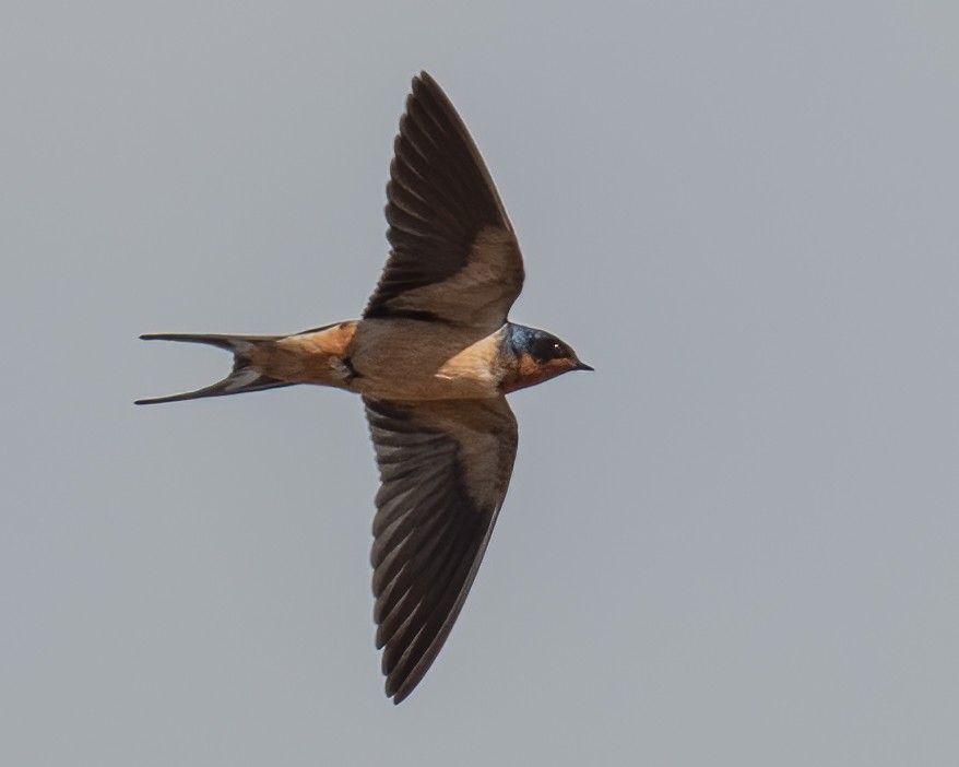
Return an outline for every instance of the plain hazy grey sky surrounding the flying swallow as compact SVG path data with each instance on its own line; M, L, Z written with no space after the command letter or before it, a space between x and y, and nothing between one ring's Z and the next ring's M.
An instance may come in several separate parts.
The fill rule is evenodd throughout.
M348 10L347 10L348 7ZM0 763L959 764L955 2L8 2ZM513 319L475 588L394 707L357 400L141 332L356 317L410 78Z

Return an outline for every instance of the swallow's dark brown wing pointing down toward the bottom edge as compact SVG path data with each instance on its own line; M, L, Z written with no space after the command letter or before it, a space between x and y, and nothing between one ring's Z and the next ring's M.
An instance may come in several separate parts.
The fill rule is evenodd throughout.
M473 585L512 473L517 421L504 397L364 402L382 480L370 555L377 648L400 703Z

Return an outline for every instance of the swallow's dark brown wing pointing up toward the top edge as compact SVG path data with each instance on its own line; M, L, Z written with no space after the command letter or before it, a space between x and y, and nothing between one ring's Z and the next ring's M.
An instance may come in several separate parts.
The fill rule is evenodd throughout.
M523 286L523 259L466 126L426 72L413 80L387 185L391 251L364 318L495 330Z

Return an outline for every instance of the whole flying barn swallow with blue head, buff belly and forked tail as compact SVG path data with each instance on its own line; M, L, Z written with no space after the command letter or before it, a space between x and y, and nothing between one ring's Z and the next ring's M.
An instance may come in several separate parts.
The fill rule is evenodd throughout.
M363 318L293 335L147 334L233 353L232 373L175 402L315 384L363 398L381 486L370 555L387 696L421 682L463 606L517 452L506 394L592 370L510 322L519 244L452 103L414 78L387 185L391 250Z

